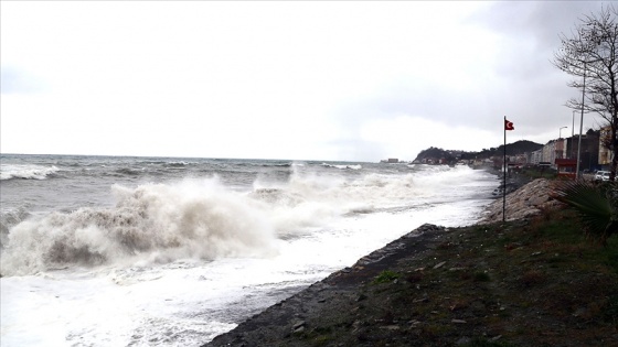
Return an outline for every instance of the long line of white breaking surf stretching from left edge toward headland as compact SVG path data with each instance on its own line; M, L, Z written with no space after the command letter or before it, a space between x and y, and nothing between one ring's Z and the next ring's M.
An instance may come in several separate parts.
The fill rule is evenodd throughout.
M456 196L458 189L449 186L472 173L466 167L351 177L295 171L286 182L256 180L249 192L232 189L216 176L135 188L114 185L113 207L29 218L22 213L10 221L2 230L1 273L269 257L277 252L278 239L323 228L337 218L409 212L431 204L435 192Z

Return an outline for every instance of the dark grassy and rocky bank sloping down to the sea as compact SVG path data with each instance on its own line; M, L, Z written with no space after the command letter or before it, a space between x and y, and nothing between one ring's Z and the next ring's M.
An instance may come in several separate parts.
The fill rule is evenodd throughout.
M204 346L618 346L618 275L542 239L564 218L550 189L511 192L507 223L499 198L476 226L424 225Z

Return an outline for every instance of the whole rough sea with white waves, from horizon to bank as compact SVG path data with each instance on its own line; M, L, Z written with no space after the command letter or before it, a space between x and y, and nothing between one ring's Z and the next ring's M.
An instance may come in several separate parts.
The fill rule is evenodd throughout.
M1 346L200 346L425 223L481 217L468 166L9 155Z

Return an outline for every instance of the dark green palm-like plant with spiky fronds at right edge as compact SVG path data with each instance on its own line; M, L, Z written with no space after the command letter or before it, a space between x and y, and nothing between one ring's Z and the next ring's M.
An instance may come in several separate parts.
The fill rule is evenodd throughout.
M618 234L618 184L587 181L560 183L553 197L573 208L585 227L586 236L607 246L607 239Z

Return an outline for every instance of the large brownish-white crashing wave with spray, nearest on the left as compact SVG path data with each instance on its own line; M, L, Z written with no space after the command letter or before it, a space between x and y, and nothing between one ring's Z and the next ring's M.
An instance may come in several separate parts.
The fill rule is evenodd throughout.
M271 224L216 178L115 185L116 206L51 213L13 227L2 274L98 265L126 258L264 257L276 251ZM153 257L156 256L156 257Z

